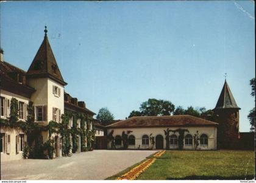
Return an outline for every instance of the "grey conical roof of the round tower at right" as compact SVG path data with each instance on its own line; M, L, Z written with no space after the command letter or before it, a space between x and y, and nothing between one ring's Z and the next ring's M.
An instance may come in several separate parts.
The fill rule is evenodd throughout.
M221 91L221 95L219 95L219 100L216 104L215 109L226 109L226 108L236 108L240 109L235 102L235 98L232 95L232 92L229 89L229 85L227 85L227 81L225 80L224 86Z

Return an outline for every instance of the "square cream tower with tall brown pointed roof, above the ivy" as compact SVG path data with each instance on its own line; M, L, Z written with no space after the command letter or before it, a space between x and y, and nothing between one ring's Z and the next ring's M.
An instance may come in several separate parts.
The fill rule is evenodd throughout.
M67 85L55 60L47 32L45 26L43 42L26 73L28 85L35 89L30 100L34 105L35 122L40 125L48 125L50 121L61 122L64 86ZM42 136L46 141L49 134L43 132ZM59 134L52 134L52 137L56 136Z

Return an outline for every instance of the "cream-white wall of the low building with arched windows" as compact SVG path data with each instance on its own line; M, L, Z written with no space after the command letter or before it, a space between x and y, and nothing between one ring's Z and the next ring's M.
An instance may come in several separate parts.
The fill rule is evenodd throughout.
M116 136L122 136L123 131L127 133L127 131L132 131L129 134L130 136L135 137L135 144L134 145L128 145L128 149L150 149L152 148L150 140L144 140L143 144L143 136L148 136L148 139L150 138L150 134L152 134L152 137L154 137L155 144L154 149L156 148L156 137L158 135L163 137L163 149L166 149L166 139L165 139L165 132L166 128L169 128L171 130L179 129L179 127L152 127L152 128L108 128L107 133L109 134L113 130L113 137ZM200 144L199 140L199 146L197 147L197 150L216 150L217 149L217 128L215 126L198 126L198 127L183 127L181 129L188 129L188 132L185 132L184 137L187 136L187 134L190 134L192 137L194 134L199 134L199 137L201 137L202 134L205 134L207 136L208 144L202 145ZM170 132L169 136L172 136L172 134L175 134L177 137L179 137L179 133L172 133ZM148 141L148 144L147 144ZM184 138L184 146L183 150L194 150L194 139L192 138L192 144L185 144L186 140ZM187 142L191 140L187 140ZM146 143L145 143L146 142ZM123 142L121 142L121 145L116 145L116 148L122 148ZM178 148L178 145L170 144L170 149L175 150ZM110 143L108 143L108 148L111 148Z

